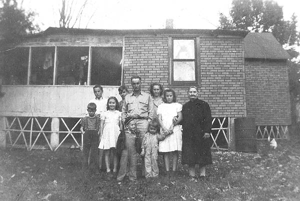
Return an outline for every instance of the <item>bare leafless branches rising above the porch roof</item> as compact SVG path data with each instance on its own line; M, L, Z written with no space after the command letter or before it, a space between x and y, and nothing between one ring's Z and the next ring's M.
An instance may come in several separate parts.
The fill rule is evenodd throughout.
M77 0L61 0L61 6L58 8L59 27L73 28L75 24L77 24L79 28L81 17L83 16L87 4L88 0L84 0L82 4L78 4ZM88 18L85 28L87 27L87 24L92 18L94 12Z

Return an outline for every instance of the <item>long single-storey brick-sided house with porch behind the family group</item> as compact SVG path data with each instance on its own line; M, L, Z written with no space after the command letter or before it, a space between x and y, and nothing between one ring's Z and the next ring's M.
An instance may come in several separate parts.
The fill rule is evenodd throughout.
M59 138L59 144L46 140L49 147L56 150L67 137L75 140L74 135L79 134L76 131L79 120L67 125L65 119L79 119L84 115L87 101L93 98L94 84L103 85L104 96L113 95L119 99L117 87L124 84L131 90L129 78L132 74L139 74L142 90L147 91L152 82L160 82L164 87L175 90L180 103L187 101L186 88L189 85L199 86L200 98L210 104L215 117L212 147L220 148L222 141L225 148L230 146L229 124L232 117L255 116L257 123L263 119L263 125L284 127L290 124L290 114L287 113L289 102L282 97L289 94L285 90L288 87L287 57L279 61L246 57L246 35L247 31L219 29L49 27L25 37L16 48L0 54L3 91L6 93L1 98L1 126L4 132L10 134L9 125L13 124L12 121L19 121L18 126L22 128L19 130L26 131L18 136L26 135L25 132L30 135L29 145L23 137L27 149L35 145L31 143L34 138L31 137L32 132L42 130L45 139L49 133L51 136L64 133L65 137ZM280 72L273 70L274 66ZM263 76L262 69L273 70L273 74L264 76L271 79L279 74L282 82L268 82L267 88L260 88L261 84L256 87L251 79ZM260 80L261 83L263 80ZM280 96L284 99L282 117L276 116L278 112L275 112L281 107L272 108L276 105L273 104L275 100L256 99L247 94L266 93L270 97L278 88L282 89L281 92L271 98ZM268 105L265 110L261 109L261 102ZM263 116L269 109L274 109L271 119L268 119L270 115ZM37 117L47 120L38 122ZM39 124L34 131L33 121ZM44 127L47 123L56 124L56 127L60 125L58 130L49 128L45 131L43 123ZM61 126L66 128L60 130ZM11 144L15 145L13 141ZM75 142L80 145L77 140Z

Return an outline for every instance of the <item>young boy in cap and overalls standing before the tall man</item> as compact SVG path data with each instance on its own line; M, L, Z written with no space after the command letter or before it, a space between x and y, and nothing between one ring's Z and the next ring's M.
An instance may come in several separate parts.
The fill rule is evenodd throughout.
M135 149L135 120L133 118L126 118L124 121L125 125L125 149L122 150L120 168L116 177L116 180L121 181L126 175L128 166L128 177L129 180L136 180L136 162L137 152Z

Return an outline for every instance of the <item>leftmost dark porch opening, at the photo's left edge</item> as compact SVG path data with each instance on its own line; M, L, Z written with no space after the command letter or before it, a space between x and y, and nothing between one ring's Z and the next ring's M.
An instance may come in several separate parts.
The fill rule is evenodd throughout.
M27 84L28 47L14 48L1 54L0 71L2 84Z

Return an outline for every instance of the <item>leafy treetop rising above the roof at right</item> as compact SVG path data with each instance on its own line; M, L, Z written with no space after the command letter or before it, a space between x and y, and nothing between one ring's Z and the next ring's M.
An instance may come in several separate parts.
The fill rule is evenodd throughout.
M293 44L299 38L296 16L285 21L282 6L273 0L232 0L229 14L230 18L220 13L219 28L272 32L280 44Z

